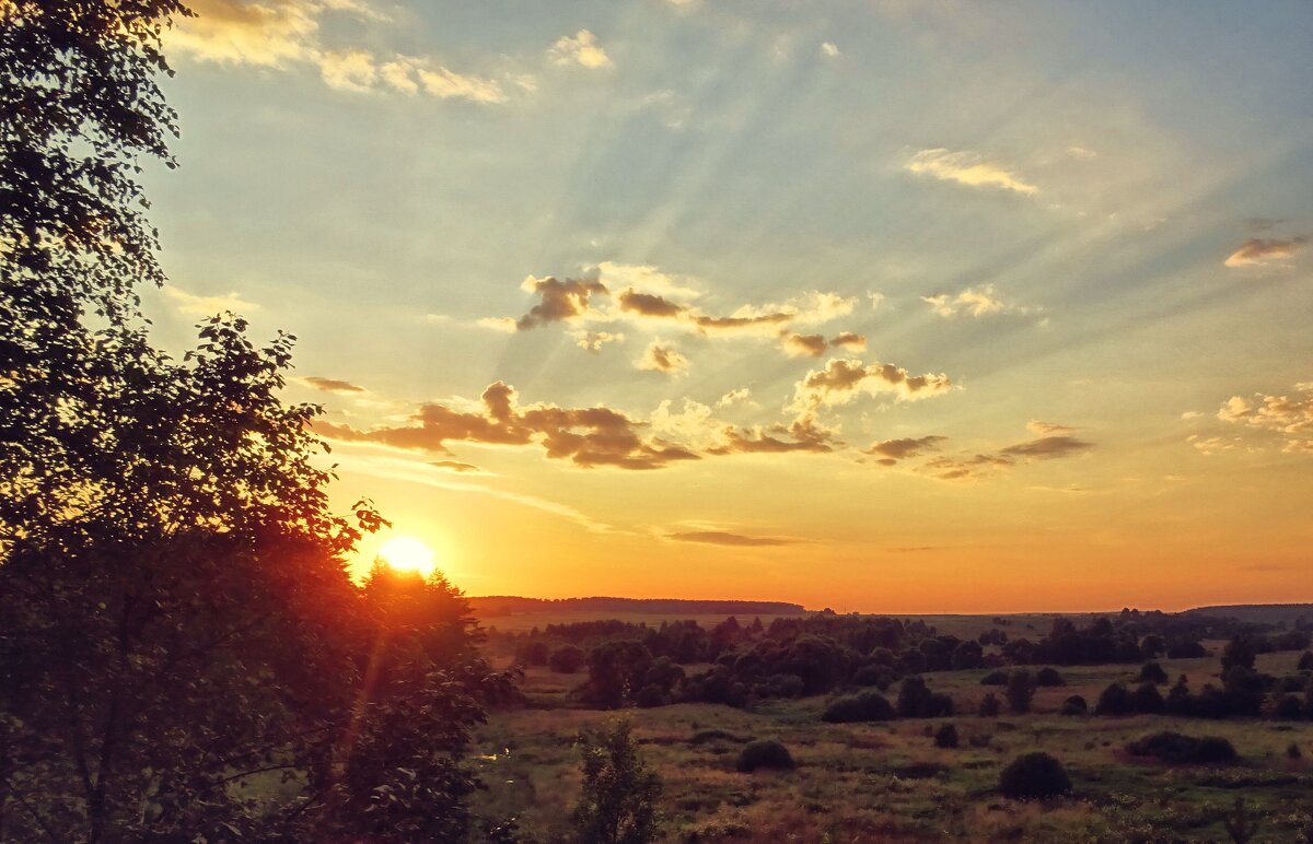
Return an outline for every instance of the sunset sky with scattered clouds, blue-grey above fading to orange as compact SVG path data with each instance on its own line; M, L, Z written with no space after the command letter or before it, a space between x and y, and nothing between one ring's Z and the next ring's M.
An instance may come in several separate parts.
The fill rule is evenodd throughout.
M193 0L183 348L469 595L1313 601L1313 7Z

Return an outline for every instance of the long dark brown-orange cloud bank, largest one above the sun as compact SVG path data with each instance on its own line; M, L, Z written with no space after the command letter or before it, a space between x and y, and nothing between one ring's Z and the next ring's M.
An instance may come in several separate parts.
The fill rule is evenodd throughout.
M500 381L488 385L481 404L471 411L439 403L423 404L411 416L410 425L360 431L320 420L314 423L314 429L330 440L376 442L442 455L450 454L448 442L537 445L549 458L567 459L582 467L645 470L699 459L688 449L645 438L639 433L641 421L611 408L520 407L515 389Z

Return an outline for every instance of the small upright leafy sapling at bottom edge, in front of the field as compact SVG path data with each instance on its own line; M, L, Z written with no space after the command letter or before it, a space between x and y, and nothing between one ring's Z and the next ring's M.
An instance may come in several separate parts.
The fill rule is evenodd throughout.
M647 769L628 721L580 746L583 794L570 815L576 840L590 844L647 844L660 833L662 782Z

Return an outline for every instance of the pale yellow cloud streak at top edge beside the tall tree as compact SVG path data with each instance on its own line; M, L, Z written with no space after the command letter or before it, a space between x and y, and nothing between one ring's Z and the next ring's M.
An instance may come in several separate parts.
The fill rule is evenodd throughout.
M452 71L429 58L360 49L326 50L319 41L320 18L347 13L382 20L370 5L353 0L193 0L196 17L179 18L168 47L200 62L252 64L277 70L318 68L334 89L357 93L397 91L428 93L481 104L508 97L498 81Z

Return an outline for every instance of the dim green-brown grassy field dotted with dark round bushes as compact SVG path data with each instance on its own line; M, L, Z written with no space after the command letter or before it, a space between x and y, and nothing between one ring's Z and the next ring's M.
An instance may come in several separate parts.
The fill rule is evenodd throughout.
M1293 669L1295 654L1259 658L1260 671ZM1216 681L1217 660L1163 660L1175 679L1199 688ZM689 705L625 710L649 764L662 774L666 833L671 841L1229 841L1221 812L1236 797L1263 820L1254 841L1304 841L1313 809L1313 769L1291 759L1293 743L1313 753L1313 725L1199 721L1136 715L1062 717L1061 702L1083 694L1092 704L1129 667L1062 669L1066 686L1040 689L1027 715L981 718L990 690L983 671L928 673L962 715L873 725L819 719L827 698L772 701L754 711ZM487 790L481 809L517 815L521 830L551 840L579 793L582 730L614 713L571 709L570 686L582 677L533 669L533 707L495 714L479 736ZM957 749L935 747L941 723L961 734ZM1148 732L1178 730L1229 739L1241 755L1217 769L1169 767L1132 757L1125 744ZM793 752L793 772L738 773L743 743L776 738ZM1020 753L1043 749L1067 768L1075 793L1049 803L1018 803L997 791L999 770Z

